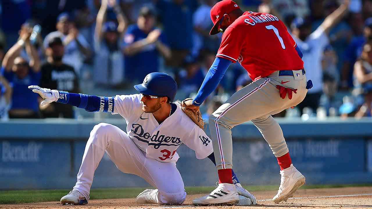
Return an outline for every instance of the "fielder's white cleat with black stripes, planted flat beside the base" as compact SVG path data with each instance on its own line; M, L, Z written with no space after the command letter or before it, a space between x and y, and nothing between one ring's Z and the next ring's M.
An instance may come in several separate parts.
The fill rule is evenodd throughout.
M236 204L239 195L234 184L221 183L209 195L192 200L194 205Z

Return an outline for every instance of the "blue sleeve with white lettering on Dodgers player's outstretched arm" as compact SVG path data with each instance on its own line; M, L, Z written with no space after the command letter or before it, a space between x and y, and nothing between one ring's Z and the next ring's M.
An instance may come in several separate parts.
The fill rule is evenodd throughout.
M59 103L64 103L79 108L83 108L88 112L113 112L114 97L99 97L87 94L68 93L67 91L59 91Z

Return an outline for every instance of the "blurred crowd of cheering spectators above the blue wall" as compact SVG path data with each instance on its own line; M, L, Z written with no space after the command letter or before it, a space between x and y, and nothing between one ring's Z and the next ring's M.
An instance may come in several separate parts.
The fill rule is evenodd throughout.
M221 41L209 36L216 2L1 0L0 119L77 117L68 105L40 107L29 85L110 96L102 94L134 93L133 84L160 71L176 79L178 99L195 96ZM372 0L236 2L278 16L304 54L314 87L277 117L371 117ZM231 64L204 116L251 82Z

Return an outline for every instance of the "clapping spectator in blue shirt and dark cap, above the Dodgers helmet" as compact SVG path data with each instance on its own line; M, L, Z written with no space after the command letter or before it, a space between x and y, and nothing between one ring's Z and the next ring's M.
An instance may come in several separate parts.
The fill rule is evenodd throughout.
M155 13L142 7L137 24L129 25L124 35L125 78L138 83L153 72L159 71L159 57L171 57L171 51L160 29L155 28Z

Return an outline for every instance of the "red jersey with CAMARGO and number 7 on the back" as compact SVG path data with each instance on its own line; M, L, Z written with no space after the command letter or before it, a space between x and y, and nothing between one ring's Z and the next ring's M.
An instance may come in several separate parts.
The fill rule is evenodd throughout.
M217 56L238 61L252 80L277 70L301 70L296 42L278 17L244 12L222 34Z

